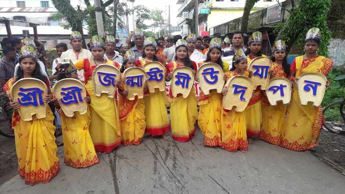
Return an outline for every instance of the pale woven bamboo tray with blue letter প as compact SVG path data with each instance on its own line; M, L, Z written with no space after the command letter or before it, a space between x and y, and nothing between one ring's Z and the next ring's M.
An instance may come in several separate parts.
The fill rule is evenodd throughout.
M266 89L266 96L272 106L282 101L287 105L291 100L291 82L286 78L273 78Z

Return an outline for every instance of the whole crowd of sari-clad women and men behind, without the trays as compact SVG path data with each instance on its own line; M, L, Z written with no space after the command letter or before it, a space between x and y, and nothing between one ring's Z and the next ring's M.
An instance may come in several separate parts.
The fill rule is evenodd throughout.
M319 30L311 29L305 39L305 54L297 57L290 66L284 41L276 40L270 56L273 61L270 78L283 77L293 83L291 103L271 106L258 86L245 111L236 112L223 109L222 98L228 93L227 87L221 94L211 91L205 95L201 91L199 98L196 98L194 87L188 97L173 97L172 90L169 95L165 91L150 93L145 87L143 98L129 100L124 80L117 79L117 96L98 97L94 93L92 73L101 64L113 65L123 73L130 67L143 68L146 63L154 61L166 67L167 83L173 78L176 67L186 66L196 73L205 63L219 65L225 73L225 81L234 76L250 78L249 63L256 57L266 57L261 53L261 32L253 32L245 44L242 32L235 32L231 38L224 39L220 36L201 38L195 34L154 39L144 37L143 32L136 29L119 47L113 36L92 36L88 49L82 48L80 32L72 32L71 49L68 50L64 43L56 45L59 58L53 61L52 75L46 73L44 63L39 60L35 41L14 38L4 44L0 83L10 99L9 106L14 109L12 128L19 174L26 184L49 182L58 174L54 123L62 127L65 163L75 168L98 163L97 152L110 153L120 144L139 145L145 133L166 139L171 131L175 141L187 142L194 137L196 122L205 137L205 146L246 152L255 139L262 139L294 151L309 150L317 145L323 122L322 111L321 107L301 105L296 80L307 72L328 74L333 62L317 55L320 42ZM222 60L228 56L233 56L231 64ZM72 63L63 63L66 60ZM200 63L201 60L203 62ZM23 78L37 78L47 85L49 94L43 100L50 106L46 108L45 118L23 121L19 116L17 109L20 105L12 99L9 91ZM79 79L85 84L86 114L75 112L73 117L67 117L61 110L61 100L51 94L53 80L65 78ZM195 79L198 81L199 78L196 76Z

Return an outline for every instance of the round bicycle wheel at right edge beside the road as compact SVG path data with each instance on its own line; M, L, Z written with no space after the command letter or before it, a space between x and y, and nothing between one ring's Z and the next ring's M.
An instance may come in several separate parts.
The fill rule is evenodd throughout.
M322 109L324 116L324 129L339 134L345 135L345 100L332 102Z

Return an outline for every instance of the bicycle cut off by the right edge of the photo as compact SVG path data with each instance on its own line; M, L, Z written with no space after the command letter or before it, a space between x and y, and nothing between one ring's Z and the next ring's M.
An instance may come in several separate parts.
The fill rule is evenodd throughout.
M340 117L339 117L338 113L336 113L338 109L339 109L338 113L340 114ZM332 103L326 105L325 107L323 107L322 108L323 115L325 115L326 111L328 111L328 110L332 113L333 117L337 117L337 118L333 118L333 119L342 118L343 123L333 122L333 121L332 122L325 121L323 123L323 127L330 132L333 132L333 133L336 133L339 135L345 135L345 98L343 100L338 100L338 101L332 102Z

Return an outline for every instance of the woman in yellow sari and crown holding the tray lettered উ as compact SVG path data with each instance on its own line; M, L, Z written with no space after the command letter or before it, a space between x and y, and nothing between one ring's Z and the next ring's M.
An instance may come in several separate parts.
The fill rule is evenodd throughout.
M221 55L221 39L212 38L206 61L198 65L200 67L205 63L215 63L222 67L224 72L227 72L229 71L229 64L222 62ZM219 79L222 78L220 77ZM198 125L205 137L204 144L212 147L221 145L220 112L222 109L222 94L218 94L217 91L212 90L209 95L205 95L204 92L201 91L199 106Z

